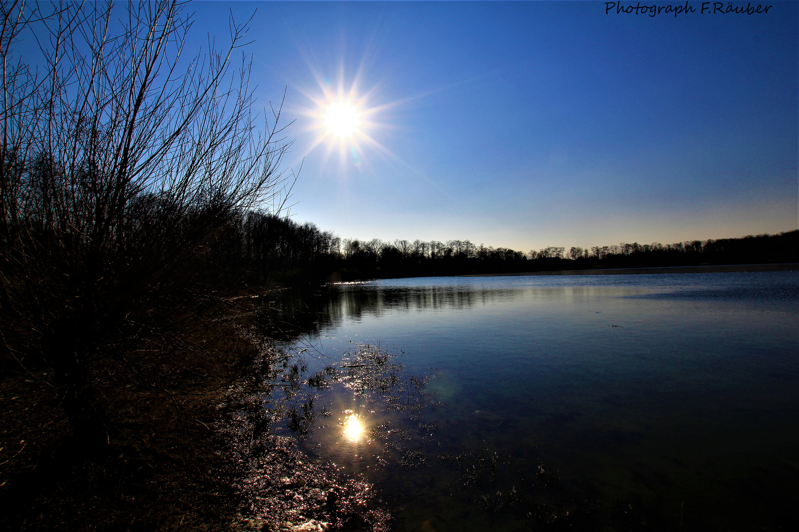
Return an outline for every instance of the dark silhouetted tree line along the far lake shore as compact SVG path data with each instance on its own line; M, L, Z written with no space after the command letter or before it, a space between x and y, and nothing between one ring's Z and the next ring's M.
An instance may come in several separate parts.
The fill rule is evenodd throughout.
M657 266L799 262L799 231L673 244L620 243L588 249L548 246L528 253L468 240L359 240L280 215L250 211L237 233L249 282L502 274ZM239 271L238 274L242 272Z

